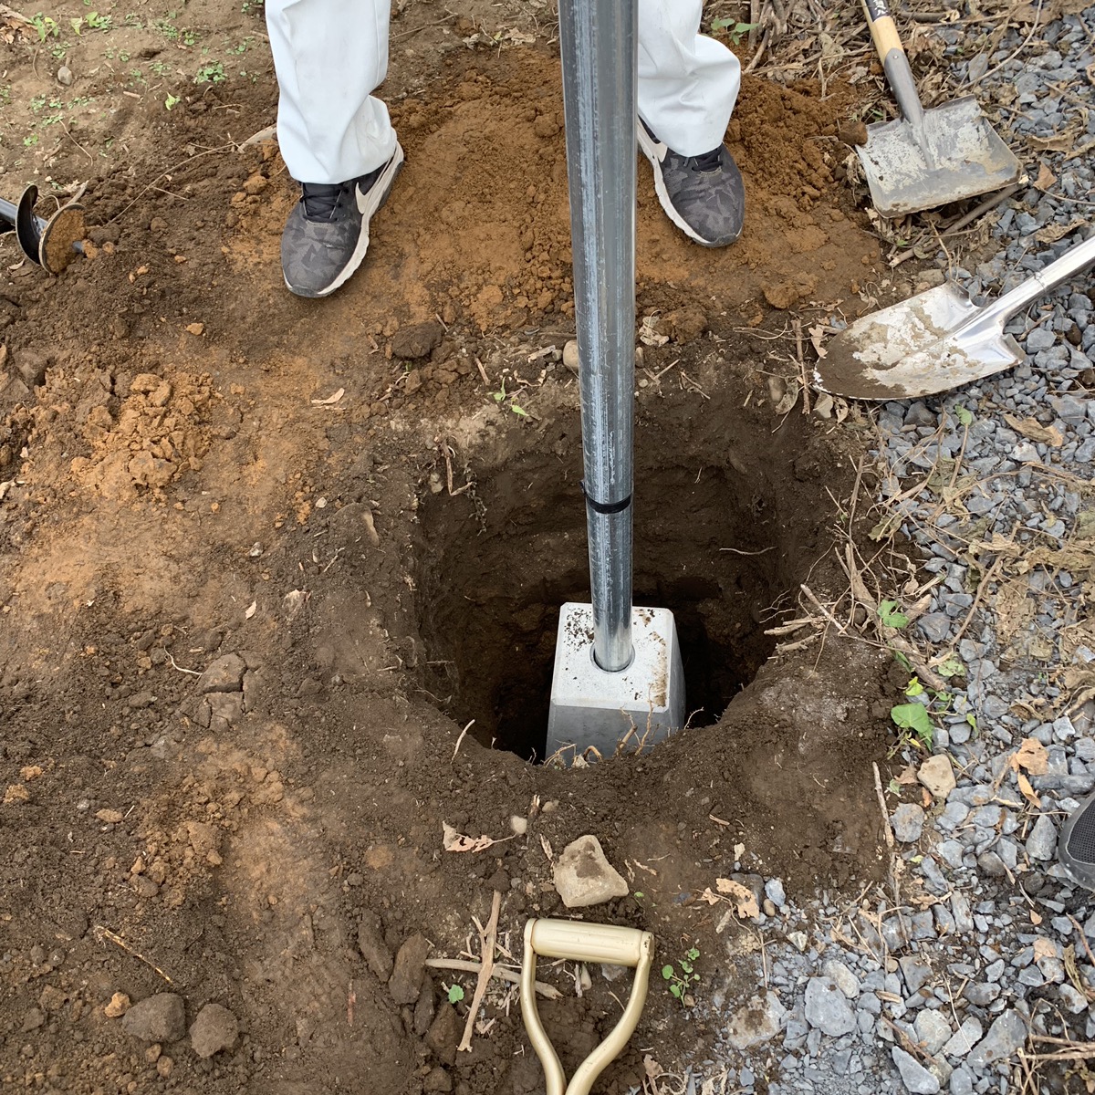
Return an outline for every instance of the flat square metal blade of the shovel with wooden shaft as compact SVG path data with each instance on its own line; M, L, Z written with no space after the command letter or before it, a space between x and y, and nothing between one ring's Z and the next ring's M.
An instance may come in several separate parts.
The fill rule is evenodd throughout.
M923 134L903 118L867 126L856 151L884 217L1002 189L1022 170L971 95L924 111Z

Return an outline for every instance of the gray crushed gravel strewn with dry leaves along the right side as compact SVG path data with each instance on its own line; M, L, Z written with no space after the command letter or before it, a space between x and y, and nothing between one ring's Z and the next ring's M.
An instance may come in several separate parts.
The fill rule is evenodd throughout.
M994 297L1090 231L1095 7L1029 41L1008 30L991 56L970 56L960 26L935 33L1038 181L989 215L995 257L954 269L940 251ZM1064 1071L1077 1062L1028 1082L1019 1050L1095 1038L1095 896L1054 862L1062 820L1095 789L1092 292L1088 275L1013 320L1018 368L880 408L883 499L932 581L901 606L906 634L944 678L942 695L907 696L934 733L901 751L886 794L889 899L796 909L770 879L760 919L785 942L757 959L757 999L723 1013L725 1051L696 1062L687 1095L1090 1090Z

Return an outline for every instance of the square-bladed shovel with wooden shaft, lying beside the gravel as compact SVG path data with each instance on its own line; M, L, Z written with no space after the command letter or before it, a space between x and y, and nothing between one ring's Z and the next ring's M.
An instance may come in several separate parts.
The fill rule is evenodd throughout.
M871 36L901 108L897 122L867 126L856 151L884 217L934 209L1010 186L1018 160L989 125L972 95L925 111L886 0L863 0Z

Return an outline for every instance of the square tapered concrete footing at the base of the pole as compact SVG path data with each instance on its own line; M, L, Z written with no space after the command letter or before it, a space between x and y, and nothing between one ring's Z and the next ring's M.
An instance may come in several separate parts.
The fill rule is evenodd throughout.
M558 618L548 717L551 757L590 746L608 759L632 727L627 748L653 746L684 725L684 670L668 609L632 609L631 665L606 672L593 660L591 604L568 601Z

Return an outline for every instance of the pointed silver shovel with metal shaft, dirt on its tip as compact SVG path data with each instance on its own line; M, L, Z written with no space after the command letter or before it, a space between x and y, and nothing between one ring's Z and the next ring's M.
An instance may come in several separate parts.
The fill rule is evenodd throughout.
M816 387L857 400L904 400L1003 372L1024 358L1004 334L1007 320L1093 264L1095 235L994 303L975 304L947 284L864 315L826 345L814 368Z

